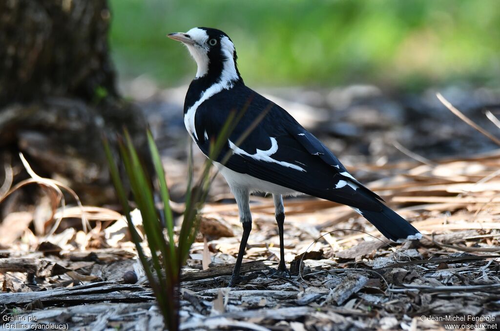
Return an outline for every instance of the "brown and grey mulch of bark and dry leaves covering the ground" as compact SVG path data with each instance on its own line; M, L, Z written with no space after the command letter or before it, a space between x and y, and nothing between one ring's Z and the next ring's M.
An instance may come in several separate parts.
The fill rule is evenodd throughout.
M443 322L431 317L446 315L489 318L468 324L495 323L499 168L500 151L431 164L360 165L384 174L368 186L421 230L422 240L390 243L348 207L289 198L284 242L292 276L260 276L235 288L226 286L241 234L237 207L227 203L230 195L213 197L222 202L204 207L202 234L183 273L182 328L442 329ZM279 255L274 207L268 197L251 200L254 227L244 270L267 273ZM36 316L29 323L67 323L72 329L160 329L124 220L106 208L82 208L92 227L88 233L67 227L35 235L30 224L38 216L25 211L0 224L0 233L10 232L0 242L0 314ZM78 206L66 206L53 218L64 224L79 215ZM137 282L129 283L135 280L130 271Z

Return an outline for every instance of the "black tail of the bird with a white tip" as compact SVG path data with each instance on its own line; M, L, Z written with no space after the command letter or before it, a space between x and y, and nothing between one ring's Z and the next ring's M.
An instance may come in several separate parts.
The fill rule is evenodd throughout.
M407 239L420 239L418 232L410 223L399 216L395 211L382 204L381 211L359 210L369 222L392 241L402 242Z

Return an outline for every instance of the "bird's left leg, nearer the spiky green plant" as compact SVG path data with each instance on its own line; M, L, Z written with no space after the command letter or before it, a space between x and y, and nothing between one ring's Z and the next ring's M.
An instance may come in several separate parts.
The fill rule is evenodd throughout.
M239 270L241 268L241 261L243 259L243 254L245 253L246 241L251 231L251 213L249 204L249 193L246 190L232 188L234 198L236 199L236 204L238 205L239 220L243 225L243 235L241 235L241 241L239 243L238 256L236 257L236 264L234 264L234 269L232 271L231 280L229 281L229 287L233 287L242 280L250 280L256 278L259 274L265 274L261 271L252 272L247 276L241 276Z

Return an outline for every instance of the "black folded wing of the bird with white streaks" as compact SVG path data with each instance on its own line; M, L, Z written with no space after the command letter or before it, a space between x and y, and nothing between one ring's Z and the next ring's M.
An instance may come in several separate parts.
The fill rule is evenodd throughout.
M265 116L236 146L265 110ZM243 114L216 159L230 154L225 163L229 169L355 208L381 210L380 197L352 178L314 135L284 109L242 84L213 95L196 110L196 142L205 155L231 111Z

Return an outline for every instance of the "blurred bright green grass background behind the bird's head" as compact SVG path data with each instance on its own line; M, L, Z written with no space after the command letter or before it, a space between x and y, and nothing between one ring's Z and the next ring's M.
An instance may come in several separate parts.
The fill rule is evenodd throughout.
M121 78L160 86L192 79L193 60L165 37L194 26L226 32L245 82L419 89L500 80L498 0L110 0Z

